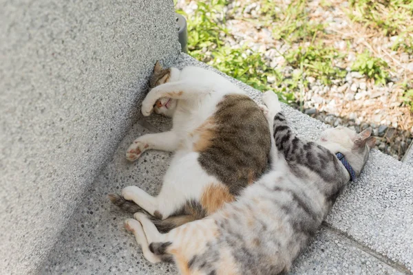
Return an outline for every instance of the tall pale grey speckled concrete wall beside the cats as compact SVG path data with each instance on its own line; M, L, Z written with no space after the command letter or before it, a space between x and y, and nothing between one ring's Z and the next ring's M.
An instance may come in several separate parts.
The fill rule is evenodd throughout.
M32 273L178 55L172 0L0 0L0 270Z

